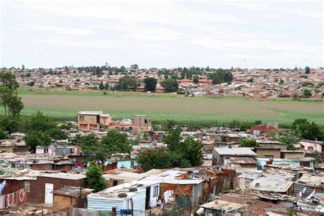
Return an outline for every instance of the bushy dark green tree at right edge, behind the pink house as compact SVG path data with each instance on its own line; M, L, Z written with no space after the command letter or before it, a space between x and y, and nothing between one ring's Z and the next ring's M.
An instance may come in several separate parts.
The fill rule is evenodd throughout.
M304 139L323 139L323 131L314 122L310 123L306 118L299 118L291 124L291 129Z

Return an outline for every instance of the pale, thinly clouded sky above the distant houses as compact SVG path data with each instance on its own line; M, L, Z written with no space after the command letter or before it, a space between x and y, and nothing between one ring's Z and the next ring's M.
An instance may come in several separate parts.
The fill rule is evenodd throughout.
M324 65L321 0L0 3L0 67Z

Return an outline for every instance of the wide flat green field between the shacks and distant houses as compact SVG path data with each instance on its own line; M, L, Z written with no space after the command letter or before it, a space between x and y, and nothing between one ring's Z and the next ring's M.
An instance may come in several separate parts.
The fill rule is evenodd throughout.
M268 99L206 96L182 97L176 94L136 92L65 91L20 88L23 115L35 111L62 120L77 120L78 111L102 110L114 119L148 115L152 120L177 122L218 122L262 120L290 124L297 118L324 124L324 102L316 100ZM3 112L3 110L1 110Z

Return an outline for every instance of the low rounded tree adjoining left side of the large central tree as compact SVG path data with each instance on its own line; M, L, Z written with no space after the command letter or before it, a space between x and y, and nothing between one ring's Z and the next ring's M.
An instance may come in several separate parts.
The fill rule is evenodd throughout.
M165 169L170 167L170 155L162 148L145 149L139 152L137 163L143 170Z

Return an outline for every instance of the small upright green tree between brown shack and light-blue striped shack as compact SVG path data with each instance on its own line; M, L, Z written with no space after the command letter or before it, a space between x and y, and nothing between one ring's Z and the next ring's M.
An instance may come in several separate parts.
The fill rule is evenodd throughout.
M90 162L90 167L85 172L85 176L87 176L87 187L94 189L94 192L105 189L106 180L103 178L103 169L95 161Z

